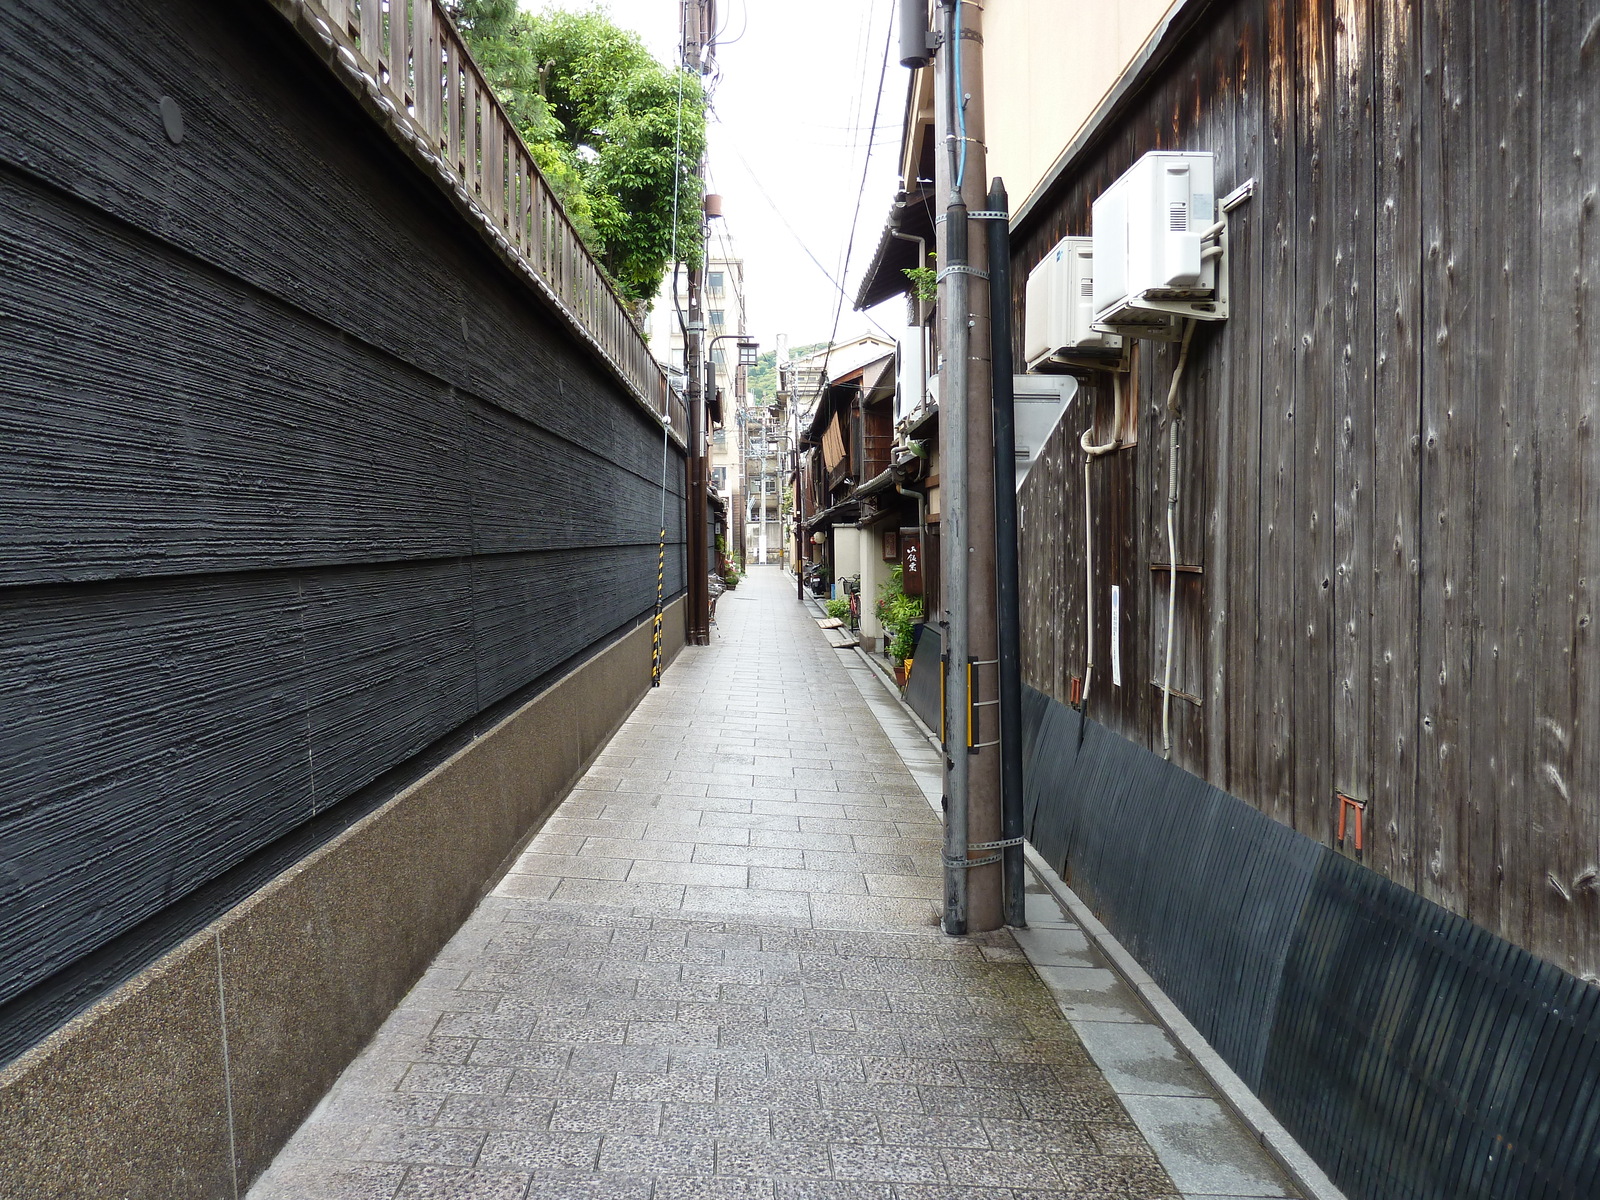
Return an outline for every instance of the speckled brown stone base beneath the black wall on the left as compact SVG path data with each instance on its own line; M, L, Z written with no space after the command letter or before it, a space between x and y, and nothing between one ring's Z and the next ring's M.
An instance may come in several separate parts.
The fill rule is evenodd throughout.
M683 646L683 603L662 658ZM232 1200L650 690L634 629L0 1072L0 1198Z

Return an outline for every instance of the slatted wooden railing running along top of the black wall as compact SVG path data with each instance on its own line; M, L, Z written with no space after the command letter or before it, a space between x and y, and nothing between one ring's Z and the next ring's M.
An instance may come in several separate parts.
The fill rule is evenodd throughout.
M304 0L645 405L688 432L643 333L578 237L438 0Z

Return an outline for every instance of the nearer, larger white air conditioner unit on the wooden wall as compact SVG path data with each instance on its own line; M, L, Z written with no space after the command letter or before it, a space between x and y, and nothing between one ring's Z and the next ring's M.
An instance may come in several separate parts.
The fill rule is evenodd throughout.
M1227 318L1214 174L1210 150L1152 150L1094 200L1094 328L1176 341Z

